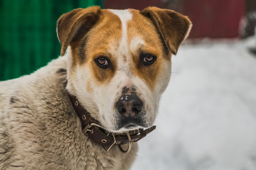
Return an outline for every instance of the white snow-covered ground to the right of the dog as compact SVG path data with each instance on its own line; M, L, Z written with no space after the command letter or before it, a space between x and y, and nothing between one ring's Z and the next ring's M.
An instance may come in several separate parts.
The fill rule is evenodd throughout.
M256 57L245 41L182 45L133 170L255 170Z

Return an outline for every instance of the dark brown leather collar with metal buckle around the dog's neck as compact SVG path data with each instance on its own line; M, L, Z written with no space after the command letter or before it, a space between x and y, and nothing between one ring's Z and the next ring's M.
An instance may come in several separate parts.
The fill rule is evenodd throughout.
M75 96L69 94L70 101L75 109L75 112L78 114L78 117L82 123L82 130L85 132L91 140L96 142L99 145L102 145L107 152L114 146L117 145L119 149L127 153L132 148L132 142L137 142L145 137L149 132L156 129L156 126L152 126L151 128L139 129L139 130L131 130L125 132L123 134L114 134L112 132L107 131L103 128L100 123L90 116L85 108L83 108L78 99ZM122 145L129 144L127 150L122 149Z

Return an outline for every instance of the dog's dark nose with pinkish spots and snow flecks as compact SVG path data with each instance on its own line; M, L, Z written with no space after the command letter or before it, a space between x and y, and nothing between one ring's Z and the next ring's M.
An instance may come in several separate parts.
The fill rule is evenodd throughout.
M117 111L124 118L134 118L142 111L143 103L137 96L122 96L117 101Z

